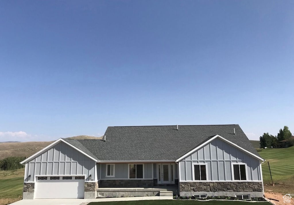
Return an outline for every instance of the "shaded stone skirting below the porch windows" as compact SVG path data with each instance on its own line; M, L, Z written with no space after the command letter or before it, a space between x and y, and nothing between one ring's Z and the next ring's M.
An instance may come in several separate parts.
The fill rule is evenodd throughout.
M152 187L153 179L102 179L98 184L99 188Z

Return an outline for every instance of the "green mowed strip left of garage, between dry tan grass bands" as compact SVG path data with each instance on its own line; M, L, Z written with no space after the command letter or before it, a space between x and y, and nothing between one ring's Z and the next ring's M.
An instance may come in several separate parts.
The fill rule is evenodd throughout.
M0 179L0 198L18 198L22 195L24 177Z

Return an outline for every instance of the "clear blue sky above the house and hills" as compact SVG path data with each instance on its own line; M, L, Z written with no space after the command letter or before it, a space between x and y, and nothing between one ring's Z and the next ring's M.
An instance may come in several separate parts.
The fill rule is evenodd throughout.
M294 1L0 1L0 141L294 132Z

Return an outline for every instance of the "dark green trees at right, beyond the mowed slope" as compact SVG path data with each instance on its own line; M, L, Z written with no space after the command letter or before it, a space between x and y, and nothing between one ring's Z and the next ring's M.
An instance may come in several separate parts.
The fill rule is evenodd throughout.
M262 136L260 136L260 148L263 147L279 147L279 142L285 139L289 139L292 136L292 133L290 132L289 128L287 126L284 126L283 129L279 130L279 133L277 136L273 136L271 134L263 133ZM293 145L293 142L292 144Z

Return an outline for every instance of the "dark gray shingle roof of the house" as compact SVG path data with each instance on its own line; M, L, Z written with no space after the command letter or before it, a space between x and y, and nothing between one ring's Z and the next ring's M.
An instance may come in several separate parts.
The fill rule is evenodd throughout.
M259 156L237 124L179 125L178 130L176 126L114 126L107 128L105 142L66 141L101 161L176 160L216 134Z

